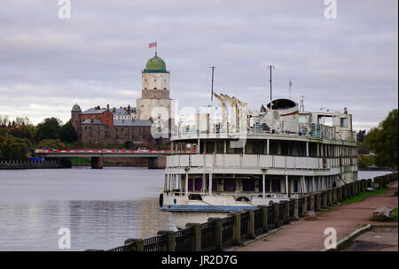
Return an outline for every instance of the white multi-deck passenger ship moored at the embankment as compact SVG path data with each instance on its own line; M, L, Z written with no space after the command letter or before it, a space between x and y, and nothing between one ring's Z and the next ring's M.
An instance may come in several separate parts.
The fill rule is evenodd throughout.
M234 96L214 95L221 107L180 121L171 138L160 210L173 212L177 227L356 181L346 108L299 111L277 99L248 111Z

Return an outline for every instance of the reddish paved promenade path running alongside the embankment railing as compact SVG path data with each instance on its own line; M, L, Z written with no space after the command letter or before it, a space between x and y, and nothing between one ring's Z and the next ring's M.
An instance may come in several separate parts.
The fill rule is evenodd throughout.
M319 251L325 248L326 227L337 230L337 242L345 235L364 224L373 224L372 211L382 205L397 207L398 198L393 196L397 181L386 194L367 196L364 201L353 204L335 205L332 211L325 212L317 220L293 221L266 239L249 243L238 251ZM379 222L380 223L380 222ZM397 233L397 230L396 230Z

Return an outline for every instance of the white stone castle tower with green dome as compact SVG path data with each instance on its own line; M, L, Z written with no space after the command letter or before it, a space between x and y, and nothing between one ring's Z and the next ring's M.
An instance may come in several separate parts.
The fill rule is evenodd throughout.
M137 99L137 119L171 119L169 76L165 62L155 56L147 61L142 72L142 97Z

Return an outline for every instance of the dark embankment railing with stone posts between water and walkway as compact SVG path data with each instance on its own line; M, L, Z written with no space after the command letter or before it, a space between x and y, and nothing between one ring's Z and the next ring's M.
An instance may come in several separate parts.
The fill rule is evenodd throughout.
M387 177L379 177L378 182L381 186L391 181L397 180L397 173L389 174ZM353 189L348 192L346 198L360 194L372 180L361 180L351 182L345 186L336 188L334 192L337 198L332 199L332 204L339 203L338 194L345 191L345 188ZM317 195L320 195L317 206ZM208 219L206 223L191 224L177 232L159 232L159 235L146 239L130 239L121 247L108 251L162 251L162 250L222 250L233 244L239 245L240 242L254 238L256 235L264 234L268 230L279 227L284 223L289 223L293 219L304 217L305 212L309 211L310 204L313 202L314 209L321 210L329 203L325 204L325 198L330 196L327 191L321 193L307 194L307 208L304 208L304 197L291 199L286 208L286 203L270 204L255 210L246 210L239 213L232 213L226 218ZM295 207L295 204L297 206ZM329 204L330 205L330 204ZM264 209L264 210L263 210ZM278 211L275 211L278 209ZM263 213L263 212L266 213ZM287 212L288 211L288 212ZM288 214L288 216L286 215ZM288 217L288 219L286 219Z

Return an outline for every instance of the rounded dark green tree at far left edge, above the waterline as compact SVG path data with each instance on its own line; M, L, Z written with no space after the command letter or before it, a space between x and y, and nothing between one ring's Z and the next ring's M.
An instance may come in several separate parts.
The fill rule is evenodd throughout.
M26 160L28 147L24 140L12 135L0 136L0 158Z

